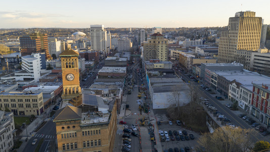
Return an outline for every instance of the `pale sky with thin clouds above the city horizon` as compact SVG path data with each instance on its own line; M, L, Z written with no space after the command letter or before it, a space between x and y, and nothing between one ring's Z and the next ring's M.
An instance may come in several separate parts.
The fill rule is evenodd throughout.
M222 27L248 10L270 24L269 0L1 1L0 28Z

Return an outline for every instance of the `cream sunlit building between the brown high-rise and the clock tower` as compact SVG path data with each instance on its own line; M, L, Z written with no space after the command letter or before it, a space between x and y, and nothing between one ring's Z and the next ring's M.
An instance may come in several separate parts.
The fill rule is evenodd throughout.
M59 58L59 55L62 52L61 48L61 41L57 41L55 37L48 38L49 41L49 54L53 56L53 54L56 55L57 58Z

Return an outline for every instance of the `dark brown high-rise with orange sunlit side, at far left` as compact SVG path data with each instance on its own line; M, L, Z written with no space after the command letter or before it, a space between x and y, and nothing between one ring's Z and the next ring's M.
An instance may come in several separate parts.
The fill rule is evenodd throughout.
M20 37L21 55L32 53L45 53L46 59L51 59L49 54L48 35L39 32L31 32L29 35Z

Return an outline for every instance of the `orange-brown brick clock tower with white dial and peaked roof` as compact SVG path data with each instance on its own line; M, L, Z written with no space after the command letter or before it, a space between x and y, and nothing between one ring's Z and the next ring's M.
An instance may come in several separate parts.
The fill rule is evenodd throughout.
M72 99L81 94L78 56L79 53L72 49L67 49L60 54L63 79L63 100Z

